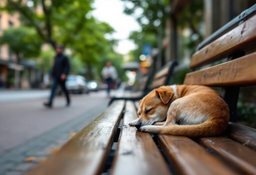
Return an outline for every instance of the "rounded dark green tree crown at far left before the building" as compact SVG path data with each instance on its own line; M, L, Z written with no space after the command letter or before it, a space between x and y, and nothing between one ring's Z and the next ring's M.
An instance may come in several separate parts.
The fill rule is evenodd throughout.
M34 29L20 26L4 30L0 44L8 44L10 50L19 58L30 58L39 55L42 41Z

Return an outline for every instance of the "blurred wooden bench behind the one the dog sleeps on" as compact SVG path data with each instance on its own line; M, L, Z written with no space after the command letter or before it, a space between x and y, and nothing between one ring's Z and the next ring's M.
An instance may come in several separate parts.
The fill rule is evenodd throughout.
M164 65L160 70L152 75L153 80L150 83L150 76L143 77L140 80L140 91L139 92L132 92L132 91L124 91L123 94L119 94L118 96L112 97L109 101L109 105L115 100L132 100L137 101L142 99L150 90L163 86L168 85L170 78L173 73L174 67L177 65L177 61L170 61L166 65Z

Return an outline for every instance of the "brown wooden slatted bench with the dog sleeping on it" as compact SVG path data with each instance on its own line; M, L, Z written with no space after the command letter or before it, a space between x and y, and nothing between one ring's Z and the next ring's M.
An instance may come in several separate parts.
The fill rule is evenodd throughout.
M188 73L184 80L184 84L221 87L232 121L237 120L239 87L256 85L255 24L256 15L202 46L191 59L192 69L225 57L227 62ZM161 76L155 79L160 82ZM256 174L256 129L230 122L226 132L216 137L151 135L128 126L138 117L138 106L137 101L115 100L28 174Z

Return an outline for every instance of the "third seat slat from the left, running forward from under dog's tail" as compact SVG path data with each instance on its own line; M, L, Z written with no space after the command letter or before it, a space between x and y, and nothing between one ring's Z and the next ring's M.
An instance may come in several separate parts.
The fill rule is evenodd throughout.
M159 135L158 143L177 174L236 174L188 137Z

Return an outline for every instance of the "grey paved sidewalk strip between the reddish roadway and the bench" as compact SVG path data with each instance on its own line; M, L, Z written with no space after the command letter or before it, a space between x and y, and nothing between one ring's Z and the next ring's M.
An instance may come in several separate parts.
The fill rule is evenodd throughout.
M51 150L58 149L66 143L72 137L71 133L79 132L92 122L106 107L106 103L101 103L79 117L0 155L0 174L24 174L48 157ZM36 159L32 162L25 162L27 157L35 157Z

